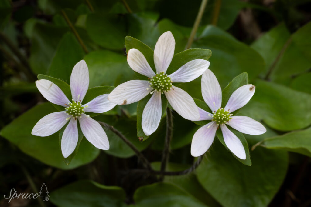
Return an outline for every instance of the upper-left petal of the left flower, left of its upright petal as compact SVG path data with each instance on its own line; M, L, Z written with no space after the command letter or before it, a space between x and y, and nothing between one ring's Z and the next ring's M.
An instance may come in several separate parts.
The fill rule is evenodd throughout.
M56 84L49 80L37 80L36 86L42 96L53 104L65 106L65 104L71 102L68 100L64 92Z

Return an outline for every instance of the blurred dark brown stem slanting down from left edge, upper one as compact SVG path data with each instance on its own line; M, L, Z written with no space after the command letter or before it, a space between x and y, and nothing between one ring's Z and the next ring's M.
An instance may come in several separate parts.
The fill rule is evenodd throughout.
M27 77L30 78L30 80L36 80L37 78L33 74L26 57L21 54L21 52L14 45L14 43L2 32L0 32L0 39L7 44L7 46L12 50L16 57L21 61L21 64L25 66L23 72L27 75Z

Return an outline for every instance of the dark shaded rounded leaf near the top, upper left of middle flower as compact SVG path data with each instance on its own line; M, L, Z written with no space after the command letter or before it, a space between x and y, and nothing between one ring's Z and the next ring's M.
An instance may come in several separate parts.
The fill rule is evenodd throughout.
M126 36L125 19L118 15L89 14L86 19L86 30L90 38L100 46L122 50Z

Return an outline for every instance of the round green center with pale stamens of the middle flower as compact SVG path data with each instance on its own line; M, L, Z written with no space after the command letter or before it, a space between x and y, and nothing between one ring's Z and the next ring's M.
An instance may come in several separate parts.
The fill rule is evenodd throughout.
M168 92L173 87L171 79L164 72L160 72L159 74L156 73L155 76L151 77L149 83L152 89L160 91L162 93L163 91Z

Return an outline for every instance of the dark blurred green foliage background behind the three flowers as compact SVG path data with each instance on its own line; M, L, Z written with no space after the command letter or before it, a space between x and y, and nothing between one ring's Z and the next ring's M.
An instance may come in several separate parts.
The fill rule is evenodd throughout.
M124 38L154 49L169 30L175 54L181 52L200 5L200 0L0 1L0 206L311 206L309 0L208 0L194 37L192 48L212 51L210 69L222 89L243 72L256 85L254 97L239 111L267 128L260 136L245 135L252 166L215 139L194 172L159 183L155 175L135 173L142 163L109 130L108 151L83 139L70 164L62 157L58 133L30 134L41 117L56 111L35 87L38 74L69 83L73 66L84 59L90 88L137 79L126 61ZM200 83L201 77L181 88L202 100ZM165 119L141 142L136 107L117 106L96 120L121 131L160 169ZM199 128L173 116L168 171L193 164L190 144ZM47 189L40 188L43 183ZM12 188L47 190L49 201L8 203L4 195Z

